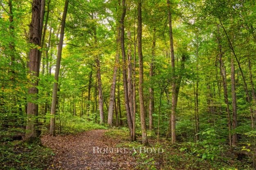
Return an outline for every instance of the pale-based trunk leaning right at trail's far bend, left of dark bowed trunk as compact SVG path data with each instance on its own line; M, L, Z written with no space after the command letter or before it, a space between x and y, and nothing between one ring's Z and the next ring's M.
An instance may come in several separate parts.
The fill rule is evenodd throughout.
M113 123L113 111L115 106L115 95L116 95L116 76L119 65L119 47L120 47L120 29L117 27L116 37L116 60L114 66L113 80L111 85L110 97L109 97L109 113L108 113L108 124L112 127Z

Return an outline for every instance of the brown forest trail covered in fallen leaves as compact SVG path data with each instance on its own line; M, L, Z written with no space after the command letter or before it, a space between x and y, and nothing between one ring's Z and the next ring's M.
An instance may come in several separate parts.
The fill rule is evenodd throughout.
M54 159L49 169L57 170L132 170L130 154L93 153L93 147L116 148L114 139L104 135L106 130L91 130L75 135L41 138L44 146L51 148Z

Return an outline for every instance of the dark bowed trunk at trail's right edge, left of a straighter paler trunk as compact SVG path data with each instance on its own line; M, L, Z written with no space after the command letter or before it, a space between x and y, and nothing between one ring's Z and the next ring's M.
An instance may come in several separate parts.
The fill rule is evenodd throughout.
M124 93L125 93L125 110L127 114L127 123L130 131L131 141L133 141L133 122L131 119L131 110L129 106L129 96L128 96L128 82L127 82L127 67L126 67L126 55L125 55L125 20L126 6L125 0L122 0L122 16L120 20L121 25L121 51L122 51L122 76L124 83Z

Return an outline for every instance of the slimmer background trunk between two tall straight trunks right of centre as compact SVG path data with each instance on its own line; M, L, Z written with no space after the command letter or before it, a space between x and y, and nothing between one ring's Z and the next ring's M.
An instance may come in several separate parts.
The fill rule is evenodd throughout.
M153 29L153 40L152 40L152 58L150 63L150 78L152 79L154 75L154 58L155 58L155 47L156 47L156 27ZM153 116L154 113L154 89L152 84L149 88L150 101L149 101L149 118L150 118L150 130L153 130Z

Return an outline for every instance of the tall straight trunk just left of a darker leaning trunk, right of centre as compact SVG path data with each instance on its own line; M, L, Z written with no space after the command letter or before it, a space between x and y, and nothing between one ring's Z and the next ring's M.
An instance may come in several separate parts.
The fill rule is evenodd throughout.
M172 143L176 142L176 107L177 107L177 93L176 93L176 76L175 76L175 60L174 48L172 38L172 14L170 11L170 0L167 0L168 7L168 23L169 23L169 37L170 37L170 50L171 50L171 65L172 65L172 114L170 120L172 123Z

